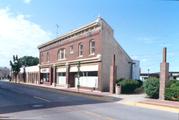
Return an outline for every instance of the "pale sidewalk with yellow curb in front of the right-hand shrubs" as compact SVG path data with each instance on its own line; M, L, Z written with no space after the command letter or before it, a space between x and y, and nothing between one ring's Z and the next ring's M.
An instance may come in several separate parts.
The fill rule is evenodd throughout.
M146 98L145 94L118 96L122 98L121 101L117 102L120 104L179 113L179 102L150 99Z

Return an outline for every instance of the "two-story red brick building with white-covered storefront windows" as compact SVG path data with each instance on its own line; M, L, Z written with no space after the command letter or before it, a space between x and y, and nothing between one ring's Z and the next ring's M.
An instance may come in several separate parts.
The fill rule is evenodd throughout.
M133 64L130 63L133 60L115 40L112 28L100 17L38 48L41 84L63 87L79 85L107 91L114 55L117 78L132 77Z

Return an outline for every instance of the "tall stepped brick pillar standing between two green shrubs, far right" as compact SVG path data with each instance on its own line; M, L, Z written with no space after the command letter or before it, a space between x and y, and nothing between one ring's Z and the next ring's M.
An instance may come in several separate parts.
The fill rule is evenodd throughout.
M169 63L167 63L167 48L163 48L163 61L160 64L159 99L165 100L165 86L169 79Z

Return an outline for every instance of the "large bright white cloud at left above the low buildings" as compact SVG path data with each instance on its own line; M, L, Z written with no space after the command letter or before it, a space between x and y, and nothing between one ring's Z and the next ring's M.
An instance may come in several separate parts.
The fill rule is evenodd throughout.
M38 56L37 46L51 36L26 15L15 15L9 8L0 9L0 26L0 66L8 66L15 54Z

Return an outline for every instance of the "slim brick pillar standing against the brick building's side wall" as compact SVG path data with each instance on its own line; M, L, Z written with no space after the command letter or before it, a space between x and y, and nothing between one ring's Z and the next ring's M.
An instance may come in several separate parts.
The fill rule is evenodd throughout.
M110 83L109 83L109 91L110 93L115 93L115 84L116 84L116 64L115 64L115 55L112 58L112 65L110 67Z

